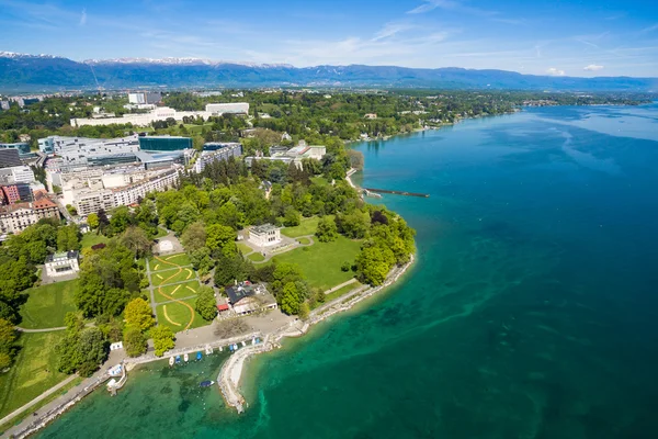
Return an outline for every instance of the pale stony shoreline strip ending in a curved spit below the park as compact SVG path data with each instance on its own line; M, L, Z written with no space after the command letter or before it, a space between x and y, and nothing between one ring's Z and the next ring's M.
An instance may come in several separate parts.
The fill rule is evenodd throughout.
M363 285L358 288L353 292L337 297L336 300L311 311L308 320L296 320L292 325L288 325L288 327L280 328L273 334L268 334L262 344L242 348L238 350L238 352L230 356L217 375L217 385L219 386L226 404L230 407L234 407L239 414L245 412L246 401L240 393L240 379L242 376L245 363L250 357L281 348L281 340L283 338L302 337L308 333L311 326L317 325L334 314L352 309L358 303L396 283L399 278L407 272L409 267L413 264L415 261L416 257L411 255L407 263L401 267L394 267L388 272L384 283L381 285ZM302 325L299 326L299 324Z

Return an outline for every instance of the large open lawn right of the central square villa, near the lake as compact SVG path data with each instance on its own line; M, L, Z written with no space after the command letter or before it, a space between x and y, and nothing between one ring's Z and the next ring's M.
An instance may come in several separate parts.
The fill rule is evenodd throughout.
M333 243L316 243L310 247L296 248L275 256L272 260L297 263L311 286L329 290L354 277L352 271L341 271L340 267L344 261L353 263L360 249L360 241L339 236Z

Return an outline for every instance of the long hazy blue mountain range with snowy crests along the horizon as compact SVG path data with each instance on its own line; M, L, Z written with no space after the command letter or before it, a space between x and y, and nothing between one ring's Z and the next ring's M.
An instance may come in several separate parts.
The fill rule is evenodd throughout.
M98 81L98 82L97 82ZM373 87L563 91L658 91L658 78L575 78L456 67L256 65L197 58L121 58L82 63L0 52L0 91L135 87Z

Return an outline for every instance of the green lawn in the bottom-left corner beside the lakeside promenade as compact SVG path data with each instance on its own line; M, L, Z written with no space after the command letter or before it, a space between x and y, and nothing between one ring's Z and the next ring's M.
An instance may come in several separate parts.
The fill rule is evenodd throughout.
M34 399L65 380L57 372L55 345L65 333L21 334L19 354L9 372L0 373L0 417Z

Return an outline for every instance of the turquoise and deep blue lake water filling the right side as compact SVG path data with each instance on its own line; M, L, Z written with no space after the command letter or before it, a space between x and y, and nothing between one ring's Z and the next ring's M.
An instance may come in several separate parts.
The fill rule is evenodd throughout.
M383 200L418 230L404 282L252 361L242 416L196 387L216 358L133 373L41 437L658 437L658 105L359 149L364 185L431 194Z

